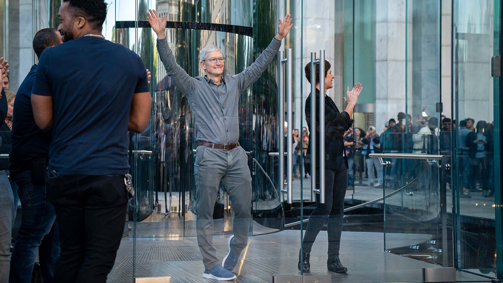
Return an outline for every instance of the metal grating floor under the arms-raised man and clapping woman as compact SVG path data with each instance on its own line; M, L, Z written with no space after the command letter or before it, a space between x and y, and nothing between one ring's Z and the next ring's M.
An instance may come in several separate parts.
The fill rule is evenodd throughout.
M421 234L386 234L387 247L409 246L431 238ZM227 239L215 238L217 257L227 253ZM321 231L311 251L311 274L326 273L326 231ZM273 275L300 274L297 270L300 233L287 230L249 237L234 272L239 283L271 283ZM347 274L332 273L332 282L412 282L422 281L422 268L436 265L382 251L383 234L343 232L341 260ZM201 276L204 270L195 238L184 240L136 241L136 277L172 276L176 283L217 282ZM466 272L458 281L487 281ZM133 282L133 241L124 240L107 282Z

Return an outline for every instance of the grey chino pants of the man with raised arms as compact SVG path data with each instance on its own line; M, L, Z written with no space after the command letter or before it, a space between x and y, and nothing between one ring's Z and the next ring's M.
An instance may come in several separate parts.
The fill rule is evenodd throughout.
M232 253L239 255L248 241L251 217L251 176L244 149L219 150L198 146L194 164L197 195L197 242L207 270L218 263L213 245L213 208L220 180L229 193L234 224Z

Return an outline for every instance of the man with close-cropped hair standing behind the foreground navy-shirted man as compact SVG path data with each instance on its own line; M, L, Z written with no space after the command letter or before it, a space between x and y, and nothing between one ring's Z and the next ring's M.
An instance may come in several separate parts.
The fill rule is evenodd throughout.
M51 46L63 43L56 29L42 29L33 38L33 50L40 58ZM39 257L44 282L52 282L59 258L56 212L47 201L45 176L52 131L41 130L33 117L31 92L37 64L19 87L12 120L10 176L18 185L23 214L11 258L12 282L31 282L35 259Z

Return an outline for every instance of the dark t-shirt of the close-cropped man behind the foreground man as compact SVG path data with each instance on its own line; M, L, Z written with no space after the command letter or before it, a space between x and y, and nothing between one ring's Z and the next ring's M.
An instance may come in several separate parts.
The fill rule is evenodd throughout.
M16 115L12 117L12 149L9 155L11 177L31 170L34 161L49 157L52 130L43 131L35 124L31 106L31 91L37 67L33 65L30 69L30 73L19 86L14 102L13 112Z

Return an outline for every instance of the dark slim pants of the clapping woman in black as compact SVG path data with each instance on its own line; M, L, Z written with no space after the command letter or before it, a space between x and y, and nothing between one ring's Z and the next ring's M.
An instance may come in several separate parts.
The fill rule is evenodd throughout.
M319 188L319 173L316 174L316 187ZM344 197L348 188L348 167L343 162L339 170L325 169L325 203L319 202L316 195L314 208L307 222L302 249L310 253L314 240L328 219L328 258L339 256L341 233L343 229Z

